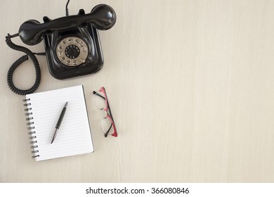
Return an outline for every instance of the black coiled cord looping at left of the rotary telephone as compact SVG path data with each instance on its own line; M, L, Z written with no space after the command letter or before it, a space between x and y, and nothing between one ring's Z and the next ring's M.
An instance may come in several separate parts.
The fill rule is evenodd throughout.
M35 54L41 55L42 53L32 53L30 49L27 49L24 46L18 46L14 44L13 42L11 42L11 38L18 37L18 36L19 34L14 34L14 35L8 34L6 36L6 44L9 47L11 47L11 49L14 49L16 51L22 51L23 53L26 53L27 55L20 57L17 61L13 63L13 65L11 65L11 68L9 68L8 76L7 76L8 87L11 89L11 91L15 92L15 94L20 94L20 95L32 94L34 91L38 89L41 82L41 70ZM34 69L36 73L34 85L30 89L25 89L25 90L18 89L13 84L13 72L15 71L16 68L18 68L19 65L27 61L29 58L32 60L32 63L34 64Z

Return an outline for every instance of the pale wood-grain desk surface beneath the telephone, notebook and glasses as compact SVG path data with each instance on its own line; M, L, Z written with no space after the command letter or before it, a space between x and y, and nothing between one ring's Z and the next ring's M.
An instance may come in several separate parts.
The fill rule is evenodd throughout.
M56 80L39 56L38 91L83 84L95 152L35 162L6 46L25 20L65 15L63 1L1 4L0 182L274 182L274 1L71 1L70 14L105 3L96 75ZM13 39L22 44L20 39ZM29 47L44 51L44 44ZM33 65L15 84L31 87ZM91 91L105 86L119 136L100 132Z

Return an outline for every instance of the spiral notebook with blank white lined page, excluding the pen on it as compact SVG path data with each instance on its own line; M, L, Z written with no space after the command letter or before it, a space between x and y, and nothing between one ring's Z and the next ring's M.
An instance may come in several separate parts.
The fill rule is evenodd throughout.
M83 86L27 94L23 101L32 158L40 161L93 152ZM51 144L56 122L66 102L67 110Z

